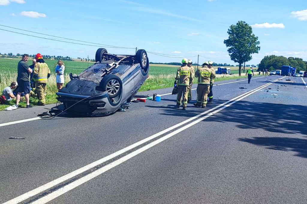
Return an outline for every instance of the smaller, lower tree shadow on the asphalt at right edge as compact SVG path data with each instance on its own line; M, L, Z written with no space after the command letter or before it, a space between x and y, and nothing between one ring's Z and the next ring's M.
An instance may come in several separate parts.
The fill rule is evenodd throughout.
M307 140L300 138L253 137L239 138L241 142L265 146L268 149L297 152L298 157L307 158Z

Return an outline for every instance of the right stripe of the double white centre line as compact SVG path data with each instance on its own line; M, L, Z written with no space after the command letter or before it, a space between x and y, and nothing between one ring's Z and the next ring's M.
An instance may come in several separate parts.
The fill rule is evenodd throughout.
M245 97L247 97L247 96L249 96L249 95L259 91L260 89L262 89L262 88L264 88L266 86L269 86L269 85L271 85L273 83L274 82L272 81L269 84L266 84L265 86L257 88L256 90L254 89L251 93L246 94L246 95L242 96L241 98L238 98L235 101L232 101L230 104L224 105L223 107L219 108L218 110L216 110L216 111L214 111L212 113L209 113L208 115L205 115L204 117L201 117L201 118L193 121L192 123L189 123L188 125L185 125L184 127L181 127L180 129L175 130L174 132L169 133L169 134L167 134L167 135L157 139L156 141L153 141L150 144L145 145L144 147L142 147L140 149L137 149L137 150L135 150L132 153L127 154L126 156L124 156L124 157L122 157L122 158L112 162L111 164L108 164L108 165L106 165L106 166L104 166L104 167L102 167L102 168L100 168L100 169L98 169L98 170L96 170L96 171L94 171L94 172L92 172L92 173L90 173L90 174L88 174L88 175L86 175L86 176L84 176L84 177L82 177L82 178L80 178L80 179L78 179L78 180L76 180L76 181L74 181L74 182L72 182L72 183L70 183L70 184L68 184L68 185L66 185L66 186L64 186L64 187L62 187L62 188L60 188L60 189L58 189L58 190L56 190L56 191L46 195L46 196L38 199L38 200L36 200L36 201L34 201L34 202L32 202L32 204L44 204L44 203L47 203L47 202L53 200L54 198L59 197L60 195L63 195L64 193L66 193L66 192L68 192L68 191L70 191L70 190L80 186L81 184L83 184L83 183L85 183L85 182L95 178L96 176L99 176L100 174L110 170L111 168L116 167L117 165L119 165L119 164L129 160L130 158L138 155L139 153L142 153L143 151L145 151L147 149L150 149L151 147L159 144L160 142L163 142L164 140L166 140L166 139L168 139L168 138L170 138L170 137L172 137L172 136L182 132L183 130L185 130L185 129L187 129L187 128L189 128L189 127L191 127L191 126L193 126L193 125L203 121L204 119L210 117L211 115L214 115L214 114L220 112L221 110L231 106L232 104L235 104L236 102L244 99Z

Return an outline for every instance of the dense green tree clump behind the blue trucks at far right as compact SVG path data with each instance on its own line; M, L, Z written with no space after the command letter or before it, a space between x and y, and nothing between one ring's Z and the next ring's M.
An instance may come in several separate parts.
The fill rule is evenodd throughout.
M284 57L284 56L276 56L276 55L267 55L265 56L259 66L258 71L263 69L271 70L279 70L282 65L293 66L296 67L299 71L306 71L307 69L307 61L303 61L301 58L294 57Z

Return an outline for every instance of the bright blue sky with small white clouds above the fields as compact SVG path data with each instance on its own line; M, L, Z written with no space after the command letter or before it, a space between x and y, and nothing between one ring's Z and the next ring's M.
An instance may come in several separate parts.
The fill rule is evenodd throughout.
M236 65L223 43L228 28L245 21L260 41L260 51L247 64L257 65L265 55L299 57L307 61L306 0L0 0L0 25L48 35L132 49L110 48L112 54L148 53L150 62ZM0 29L64 40L52 36ZM89 44L89 43L83 43ZM0 30L0 53L61 55L95 58L99 47L57 42ZM173 56L174 55L174 56Z

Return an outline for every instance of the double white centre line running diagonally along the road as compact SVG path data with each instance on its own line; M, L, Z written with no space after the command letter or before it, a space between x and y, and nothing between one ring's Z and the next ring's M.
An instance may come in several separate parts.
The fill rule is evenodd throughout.
M282 77L282 78L284 78L284 77ZM119 155L121 155L121 154L123 154L123 153L125 153L125 152L127 152L127 151L129 151L129 150L131 150L131 149L133 149L133 148L135 148L137 146L139 146L139 145L142 145L145 142L148 142L148 141L150 141L150 140L152 140L154 138L157 138L157 137L159 137L159 136L169 132L170 130L176 129L177 127L180 127L180 126L182 126L182 125L184 125L184 124L194 120L193 122L191 122L191 123L189 123L189 124L179 128L179 129L175 130L174 132L166 134L165 136L163 136L163 137L161 137L161 138L159 138L159 139L157 139L157 140L155 140L155 141L153 141L153 142L151 142L151 143L149 143L149 144L147 144L147 145L145 145L145 146L143 146L143 147L141 147L141 148L139 148L139 149L137 149L137 150L135 150L135 151L133 151L133 152L123 156L123 157L121 157L121 158L119 158L118 160L116 160L116 161L114 161L114 162L112 162L110 164L107 164L106 166L103 166L102 168L99 168L99 169L97 169L97 170L87 174L86 176L81 177L80 179L77 179L76 181L74 181L72 183L69 183L69 184L65 185L64 187L61 187L60 189L58 189L56 191L53 191L52 193L50 193L48 195L45 195L44 197L39 198L39 199L37 199L36 201L33 202L35 204L47 203L47 202L51 201L52 199L54 199L54 198L56 198L56 197L58 197L60 195L63 195L64 193L72 190L73 188L75 188L77 186L80 186L81 184L83 184L83 183L85 183L85 182L95 178L96 176L99 176L100 174L106 172L107 170L109 170L111 168L114 168L115 166L123 163L124 161L127 161L128 159L138 155L139 153L142 153L146 149L149 149L149 148L153 147L154 145L159 144L160 142L162 142L162 141L164 141L164 140L166 140L166 139L176 135L177 133L180 133L181 131L183 131L183 130L185 130L185 129L187 129L187 128L189 128L189 127L191 127L191 126L193 126L193 125L195 125L197 123L199 123L200 121L210 117L211 115L214 115L215 113L223 110L224 108L227 108L227 107L231 106L232 104L234 104L234 103L244 99L245 97L247 97L247 96L249 96L249 95L259 91L260 89L265 88L266 86L269 86L269 85L273 84L275 81L278 81L278 80L280 80L282 78L276 79L276 80L274 80L274 81L272 81L270 83L267 83L267 84L262 85L262 86L260 86L260 87L258 87L256 89L253 89L253 90L251 90L251 91L249 91L247 93L244 93L244 94L242 94L240 96L237 96L237 97L235 97L235 98L233 98L233 99L231 99L231 100L229 100L229 101L227 101L227 102L225 102L223 104L220 104L220 105L218 105L218 106L216 106L214 108L211 108L210 110L204 111L204 112L202 112L202 113L200 113L200 114L198 114L198 115L196 115L196 116L194 116L192 118L189 118L189 119L187 119L187 120L185 120L185 121L183 121L181 123L178 123L178 124L176 124L176 125L174 125L172 127L167 128L165 130L162 130L161 132L158 132L158 133L156 133L156 134L154 134L154 135L152 135L152 136L150 136L148 138L145 138L145 139L143 139L143 140L141 140L139 142L136 142L136 143L134 143L134 144L124 148L124 149L121 149L121 150L119 150L119 151L117 151L117 152L115 152L113 154L110 154L107 157L103 157L102 159L100 159L98 161L95 161L95 162L93 162L91 164L88 164L88 165L86 165L86 166L84 166L82 168L79 168L79 169L77 169L77 170L75 170L75 171L73 171L73 172L71 172L71 173L69 173L69 174L67 174L65 176L62 176L62 177L60 177L58 179L55 179L55 180L53 180L53 181L51 181L49 183L46 183L45 185L40 186L40 187L38 187L38 188L36 188L36 189L34 189L32 191L29 191L29 192L27 192L27 193L25 193L23 195L20 195L20 196L18 196L16 198L13 198L13 199L11 199L11 200L3 203L3 204L17 204L19 202L22 202L22 201L24 201L24 200L26 200L28 198L31 198L31 197L39 194L39 193L42 193L43 191L46 191L49 188L55 187L56 185L58 185L60 183L63 183L64 181L67 181L68 179L71 179L71 178L73 178L73 177L75 177L75 176L77 176L77 175L79 175L81 173L84 173L84 172L90 170L91 168L94 168L97 165L103 164L104 162L106 162L106 161L108 161L108 160L110 160L110 159L112 159L114 157L117 157L117 156L119 156ZM207 113L209 113L209 114L207 114Z

